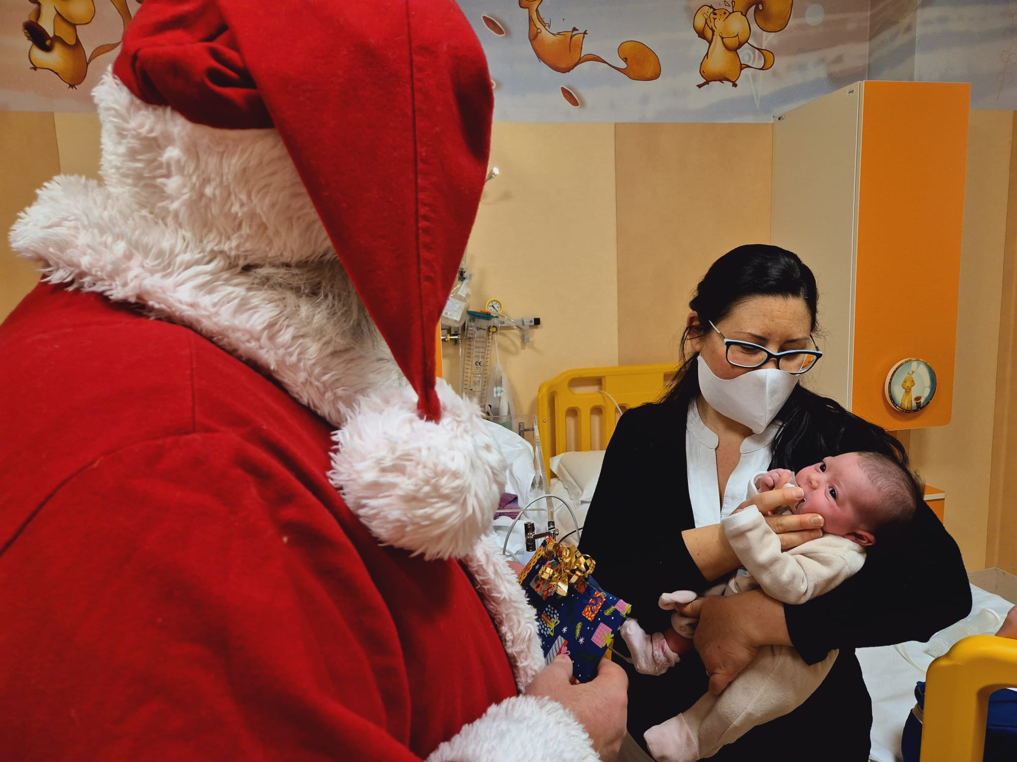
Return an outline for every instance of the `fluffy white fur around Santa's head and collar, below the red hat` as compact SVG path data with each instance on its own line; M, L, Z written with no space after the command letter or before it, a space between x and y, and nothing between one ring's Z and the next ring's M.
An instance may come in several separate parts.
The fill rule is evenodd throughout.
M333 426L402 374L275 130L220 130L94 91L105 180L59 177L11 248L50 282L142 305L272 375Z

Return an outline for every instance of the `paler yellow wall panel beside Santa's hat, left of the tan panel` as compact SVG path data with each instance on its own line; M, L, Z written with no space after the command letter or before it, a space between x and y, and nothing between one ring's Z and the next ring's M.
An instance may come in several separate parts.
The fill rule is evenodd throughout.
M518 409L536 414L542 381L618 364L614 125L498 123L491 164L467 248L471 307L496 297L541 319L529 344L513 330L498 343ZM458 350L443 358L458 388Z

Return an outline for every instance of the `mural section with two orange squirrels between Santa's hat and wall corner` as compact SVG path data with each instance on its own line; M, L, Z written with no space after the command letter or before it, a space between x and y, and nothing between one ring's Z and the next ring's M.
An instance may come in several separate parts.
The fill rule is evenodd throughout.
M869 0L460 5L503 121L770 121L868 66Z

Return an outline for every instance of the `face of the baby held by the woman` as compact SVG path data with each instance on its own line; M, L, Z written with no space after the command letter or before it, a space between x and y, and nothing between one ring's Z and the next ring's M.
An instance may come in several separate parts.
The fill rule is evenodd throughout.
M861 469L857 453L823 458L816 465L802 468L794 482L804 493L804 499L794 507L795 513L819 513L826 523L823 530L830 534L847 535L859 545L872 534L864 521L865 506L879 500L875 488Z

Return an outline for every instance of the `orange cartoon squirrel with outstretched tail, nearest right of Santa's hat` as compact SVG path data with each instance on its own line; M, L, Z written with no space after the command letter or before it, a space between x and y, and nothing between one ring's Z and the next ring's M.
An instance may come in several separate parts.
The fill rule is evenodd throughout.
M573 26L571 31L552 33L538 8L544 0L519 0L519 7L530 15L530 45L537 59L561 74L567 73L582 63L596 61L620 71L630 79L649 81L660 76L660 59L643 43L629 40L618 46L618 58L625 64L615 66L592 53L583 55L583 40L587 31Z

